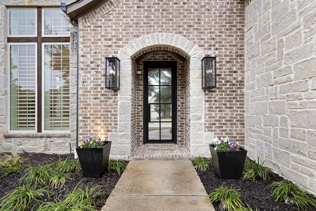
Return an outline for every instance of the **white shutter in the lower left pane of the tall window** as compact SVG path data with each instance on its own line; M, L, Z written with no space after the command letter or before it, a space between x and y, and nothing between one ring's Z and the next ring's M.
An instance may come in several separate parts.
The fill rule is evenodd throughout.
M36 129L36 45L10 45L10 130Z

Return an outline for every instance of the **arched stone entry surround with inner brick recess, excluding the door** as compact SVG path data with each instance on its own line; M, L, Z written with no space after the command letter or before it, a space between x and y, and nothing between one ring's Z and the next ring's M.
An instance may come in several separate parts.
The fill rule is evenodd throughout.
M192 100L202 101L201 90L201 59L204 54L193 42L179 35L169 33L153 33L137 38L127 44L118 53L121 60L118 122L126 125L130 114L130 128L118 131L115 137L129 139L130 153L137 146L144 144L144 61L175 61L177 63L177 146L184 147L189 153L195 154L192 137L201 137L203 119L192 119L191 114L203 116L203 104L191 103ZM127 81L127 80L130 81ZM179 90L180 89L180 90ZM192 92L195 93L192 96ZM124 96L125 95L125 96ZM194 97L194 98L192 98ZM125 109L130 105L130 113ZM129 114L128 114L129 113ZM146 131L145 131L146 132ZM109 134L110 137L110 134ZM128 144L127 140L124 144ZM120 140L116 141L118 144ZM114 143L115 144L115 143Z

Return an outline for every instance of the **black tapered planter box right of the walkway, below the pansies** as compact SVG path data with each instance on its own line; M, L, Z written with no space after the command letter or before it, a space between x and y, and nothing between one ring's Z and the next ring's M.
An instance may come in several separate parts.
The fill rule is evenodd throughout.
M219 178L240 179L247 150L240 147L240 151L217 152L214 147L214 144L209 145L215 173Z

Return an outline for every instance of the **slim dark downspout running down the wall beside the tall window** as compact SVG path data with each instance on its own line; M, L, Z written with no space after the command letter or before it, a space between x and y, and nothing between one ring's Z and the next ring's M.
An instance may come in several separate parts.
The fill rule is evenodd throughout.
M60 8L61 10L69 17L69 15L67 14L67 8L66 8L66 3L65 2L61 2L60 3ZM77 108L77 112L76 112L76 147L78 147L78 139L79 139L79 27L78 27L78 23L76 21L74 21L71 17L69 17L69 22L77 27L77 80L76 80L76 84L77 84L77 99L76 99L76 108ZM76 151L76 150L75 150ZM75 156L76 157L76 156Z

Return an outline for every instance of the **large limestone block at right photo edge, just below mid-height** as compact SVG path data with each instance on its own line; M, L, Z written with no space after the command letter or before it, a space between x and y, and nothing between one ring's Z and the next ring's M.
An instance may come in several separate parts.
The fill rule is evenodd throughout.
M291 127L316 129L316 110L290 111Z

